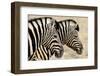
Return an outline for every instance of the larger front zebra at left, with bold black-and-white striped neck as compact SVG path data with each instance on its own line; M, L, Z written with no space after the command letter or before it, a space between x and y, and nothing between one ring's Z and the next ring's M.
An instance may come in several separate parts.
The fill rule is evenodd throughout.
M41 52L40 56L46 57L48 55L48 58L41 58L41 60L49 59L49 54L43 55L45 51L54 54L57 58L62 57L64 50L55 29L55 23L56 20L51 17L35 18L28 21L28 60L34 60L37 52ZM40 49L42 50L40 51Z

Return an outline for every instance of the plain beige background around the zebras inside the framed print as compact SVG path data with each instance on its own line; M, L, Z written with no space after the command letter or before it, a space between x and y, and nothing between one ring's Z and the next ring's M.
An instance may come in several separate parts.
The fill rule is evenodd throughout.
M40 16L40 15L28 15L28 19L34 19L39 17L52 17L57 21L65 20L65 19L73 19L79 24L79 38L83 44L83 53L81 55L77 54L75 51L64 45L64 55L59 59L79 59L79 58L87 58L88 57L88 18L87 17L75 17L75 16ZM51 60L55 60L54 56Z

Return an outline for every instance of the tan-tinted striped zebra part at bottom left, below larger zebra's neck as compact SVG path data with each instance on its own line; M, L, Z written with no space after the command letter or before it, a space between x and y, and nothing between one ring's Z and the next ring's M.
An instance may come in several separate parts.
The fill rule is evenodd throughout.
M41 45L30 57L30 60L50 60L53 53L50 49L46 48L45 46Z

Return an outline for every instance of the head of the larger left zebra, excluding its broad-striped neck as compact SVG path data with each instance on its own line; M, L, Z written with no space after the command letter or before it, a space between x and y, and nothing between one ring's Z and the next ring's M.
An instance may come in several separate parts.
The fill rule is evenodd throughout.
M46 43L44 45L45 47L50 49L52 55L60 58L63 55L64 49L60 42L58 32L55 29L55 20L52 19L51 22L48 23L46 26L47 30L44 38L44 42L46 40Z

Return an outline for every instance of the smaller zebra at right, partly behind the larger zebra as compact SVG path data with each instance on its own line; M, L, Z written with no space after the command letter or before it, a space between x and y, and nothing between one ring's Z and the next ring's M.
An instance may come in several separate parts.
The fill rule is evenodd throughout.
M79 39L79 25L73 19L66 19L56 22L56 30L58 32L62 45L67 45L77 54L82 54L83 45Z

